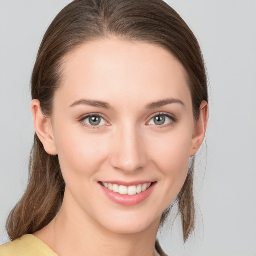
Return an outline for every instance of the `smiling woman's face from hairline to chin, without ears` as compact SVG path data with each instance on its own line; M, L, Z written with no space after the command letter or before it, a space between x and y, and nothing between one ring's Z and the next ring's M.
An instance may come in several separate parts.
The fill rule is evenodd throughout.
M88 42L65 57L53 106L52 136L72 214L120 233L158 223L194 154L183 66L149 43Z

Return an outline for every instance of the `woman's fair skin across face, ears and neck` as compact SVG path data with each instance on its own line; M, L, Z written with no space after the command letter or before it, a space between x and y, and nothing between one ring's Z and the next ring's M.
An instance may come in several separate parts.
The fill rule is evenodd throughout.
M153 255L161 213L184 184L188 161L207 125L207 103L195 122L183 66L165 49L118 38L87 42L65 56L53 113L31 104L34 126L49 154L58 154L66 182L57 217L35 236L59 255ZM182 101L146 108L165 99ZM74 104L103 101L109 108ZM92 126L86 114L98 114ZM165 116L157 125L154 116ZM99 181L155 181L132 206L117 204ZM114 241L114 242L113 242Z

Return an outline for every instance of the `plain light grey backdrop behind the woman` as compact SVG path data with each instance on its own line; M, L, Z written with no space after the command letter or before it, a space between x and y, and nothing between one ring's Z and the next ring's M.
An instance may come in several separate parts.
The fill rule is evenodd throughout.
M27 182L33 140L29 83L42 36L67 0L0 0L0 244ZM195 234L180 219L159 232L169 255L256 255L256 1L168 0L201 45L210 116L197 156ZM207 150L206 150L207 149ZM171 227L172 226L172 227Z

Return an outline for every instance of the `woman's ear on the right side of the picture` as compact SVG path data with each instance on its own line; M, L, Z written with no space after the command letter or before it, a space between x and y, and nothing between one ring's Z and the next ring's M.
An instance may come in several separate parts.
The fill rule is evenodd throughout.
M208 123L208 103L202 101L200 105L200 116L194 126L194 133L191 141L189 157L194 156L199 150L207 128Z

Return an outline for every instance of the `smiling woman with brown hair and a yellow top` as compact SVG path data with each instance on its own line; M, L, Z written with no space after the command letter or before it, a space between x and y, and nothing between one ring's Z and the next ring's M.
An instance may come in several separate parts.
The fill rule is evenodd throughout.
M30 180L0 255L165 255L172 202L194 229L193 162L208 117L198 42L161 0L75 0L31 79Z

